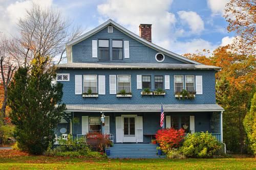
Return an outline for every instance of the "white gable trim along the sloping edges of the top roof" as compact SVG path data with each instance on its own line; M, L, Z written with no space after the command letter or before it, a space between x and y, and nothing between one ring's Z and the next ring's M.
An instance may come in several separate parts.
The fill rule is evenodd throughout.
M96 27L95 29L93 29L93 30L87 32L86 34L83 34L83 35L81 35L81 36L75 38L74 40L69 41L69 42L66 44L67 49L68 49L70 46L71 46L71 48L72 48L73 45L75 45L75 44L77 44L77 43L79 43L79 42L81 42L81 41L83 41L83 40L89 38L90 36L92 36L92 35L98 33L99 31L103 30L105 27L107 27L107 26L109 26L109 25L115 27L117 30L121 31L122 33L126 34L127 36L130 36L131 38L133 38L133 39L135 39L135 40L141 42L142 44L144 44L144 45L146 45L146 46L148 46L148 47L151 47L151 48L153 48L154 50L159 51L159 52L161 52L161 53L163 53L163 54L165 54L165 55L167 55L167 56L170 55L170 56L172 56L173 58L175 58L175 59L177 59L177 60L180 60L180 61L182 61L182 62L188 63L188 64L201 64L201 63L199 63L199 62L196 62L196 61L187 59L186 57L180 56L180 55L178 55L178 54L176 54L176 53L170 52L170 51L168 51L168 50L166 50L166 49L164 49L164 48L162 48L162 47L160 47L160 46L158 46L158 45L156 45L156 44L154 44L154 43L151 43L151 42L149 42L149 41L147 41L147 40L141 38L140 36L134 34L133 32L131 32L131 31L125 29L124 27L120 26L118 23L116 23L115 21L113 21L113 20L111 20L111 19L109 19L108 21L102 23L100 26L98 26L98 27ZM68 50L67 50L67 58L68 58L68 62L72 62L72 51L70 51L70 50L68 51Z

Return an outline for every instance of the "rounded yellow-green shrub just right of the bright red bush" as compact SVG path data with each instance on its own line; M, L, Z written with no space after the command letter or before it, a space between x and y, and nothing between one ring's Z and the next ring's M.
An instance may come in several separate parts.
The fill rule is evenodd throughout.
M197 132L185 137L180 151L186 157L208 158L218 153L221 143L208 132Z

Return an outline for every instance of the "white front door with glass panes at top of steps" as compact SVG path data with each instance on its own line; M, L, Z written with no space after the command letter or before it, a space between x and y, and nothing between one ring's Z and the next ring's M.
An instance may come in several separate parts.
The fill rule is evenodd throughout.
M123 142L136 142L135 116L123 117Z

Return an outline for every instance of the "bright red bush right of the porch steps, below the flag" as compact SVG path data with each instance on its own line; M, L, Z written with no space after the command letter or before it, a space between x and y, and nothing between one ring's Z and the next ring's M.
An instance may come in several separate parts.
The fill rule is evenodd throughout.
M185 137L185 130L183 128L176 130L160 129L156 134L156 141L159 143L159 147L165 153L169 152L173 148L178 148L181 145L182 140Z

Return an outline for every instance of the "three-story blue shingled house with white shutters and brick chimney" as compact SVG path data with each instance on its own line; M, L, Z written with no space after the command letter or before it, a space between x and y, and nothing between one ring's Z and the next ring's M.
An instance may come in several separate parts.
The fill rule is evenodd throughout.
M162 103L165 128L209 131L222 141L223 108L215 96L220 67L165 50L151 42L151 30L141 24L138 36L110 19L66 44L68 62L57 66L57 81L67 110L57 135L112 134L112 153L125 157L125 144L151 147L147 143L160 129Z

